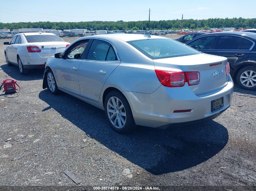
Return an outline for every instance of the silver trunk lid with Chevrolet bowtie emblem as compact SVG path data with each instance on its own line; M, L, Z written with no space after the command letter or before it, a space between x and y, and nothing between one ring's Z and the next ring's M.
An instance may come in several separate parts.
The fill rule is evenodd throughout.
M210 64L221 63L210 66ZM227 84L225 65L227 58L209 54L197 54L154 60L155 69L166 71L199 72L200 81L189 86L196 95L212 92ZM216 76L216 77L215 77ZM186 82L185 85L188 85Z

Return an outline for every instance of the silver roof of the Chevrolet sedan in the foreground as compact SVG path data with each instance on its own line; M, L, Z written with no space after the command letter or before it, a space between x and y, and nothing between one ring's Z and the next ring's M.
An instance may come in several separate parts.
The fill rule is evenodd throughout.
M125 42L131 41L131 40L143 40L143 39L166 39L165 37L159 37L152 35L150 38L145 37L144 34L127 34L127 33L112 33L112 34L99 34L95 36L88 36L88 37L82 37L84 39L87 38L100 38L105 40L110 40L111 38L116 38L119 40L123 40Z

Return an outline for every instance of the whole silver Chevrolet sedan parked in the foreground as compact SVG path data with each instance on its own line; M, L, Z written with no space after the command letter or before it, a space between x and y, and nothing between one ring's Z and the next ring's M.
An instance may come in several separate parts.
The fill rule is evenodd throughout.
M105 110L117 132L219 116L231 103L229 63L150 34L82 37L45 65L43 88Z

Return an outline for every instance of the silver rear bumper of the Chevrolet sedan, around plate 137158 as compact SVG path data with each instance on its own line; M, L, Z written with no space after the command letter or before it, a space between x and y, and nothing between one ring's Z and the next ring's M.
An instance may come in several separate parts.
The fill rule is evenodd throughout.
M152 94L123 93L137 125L166 128L176 123L214 119L230 106L233 87L229 76L225 87L201 95L195 95L187 84L179 88L160 86ZM211 101L220 97L223 97L224 106L211 112ZM190 109L190 112L174 113L175 110Z

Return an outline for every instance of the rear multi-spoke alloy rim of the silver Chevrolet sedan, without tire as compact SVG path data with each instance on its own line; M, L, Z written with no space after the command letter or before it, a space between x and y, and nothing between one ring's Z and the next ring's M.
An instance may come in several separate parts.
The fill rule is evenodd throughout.
M113 126L121 129L125 126L126 112L121 100L117 97L110 97L107 103L108 118Z

